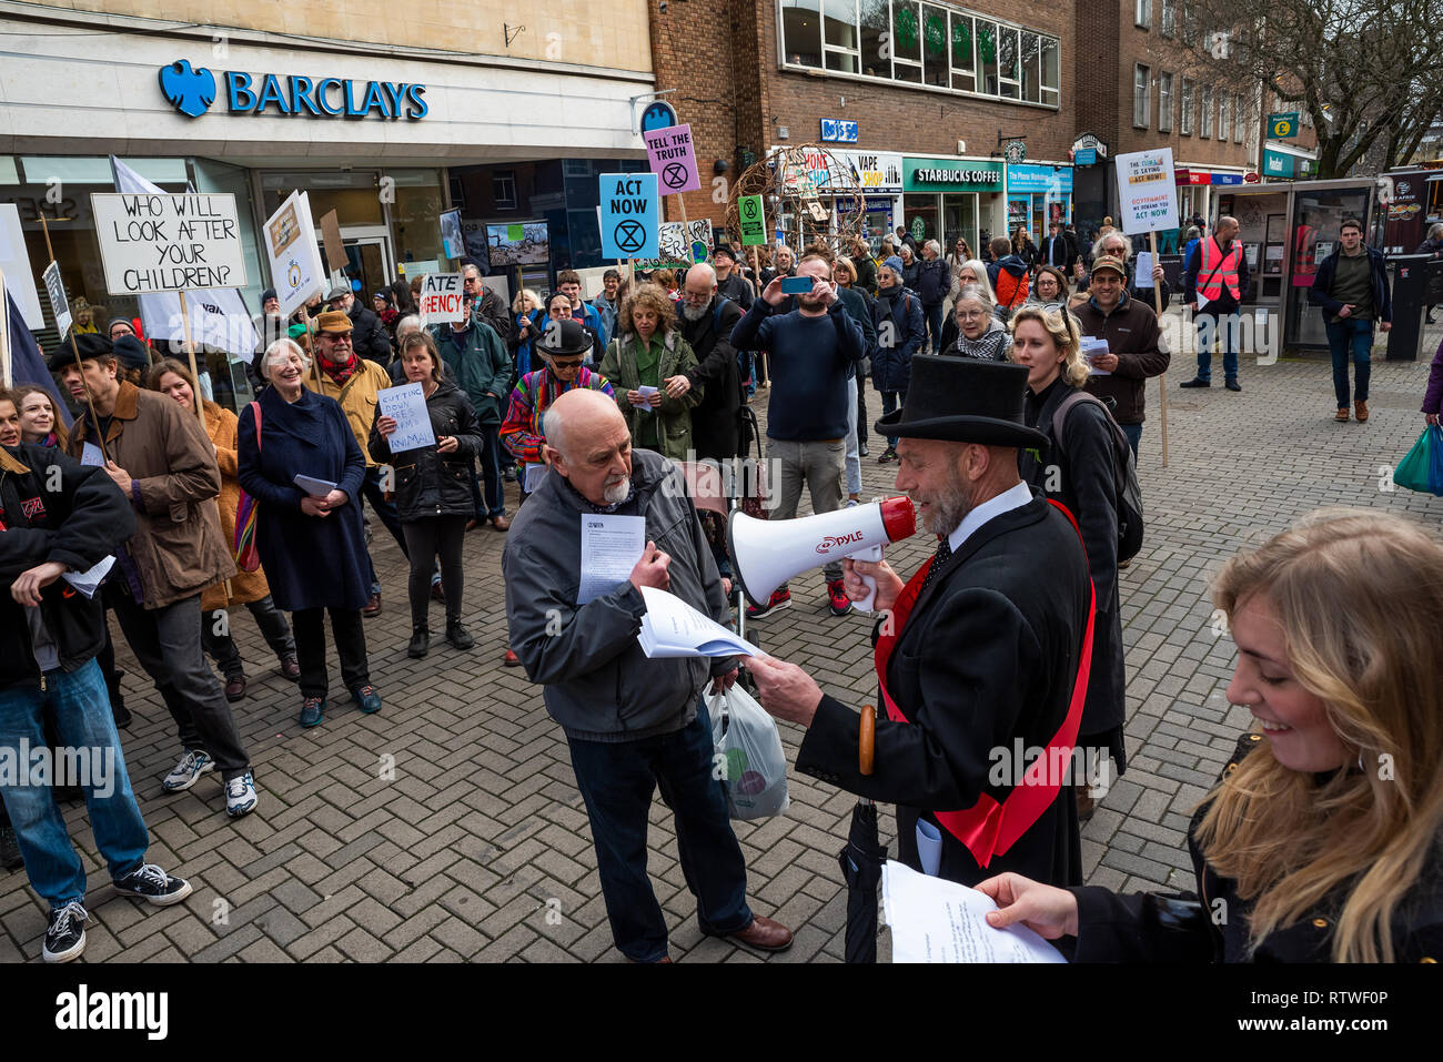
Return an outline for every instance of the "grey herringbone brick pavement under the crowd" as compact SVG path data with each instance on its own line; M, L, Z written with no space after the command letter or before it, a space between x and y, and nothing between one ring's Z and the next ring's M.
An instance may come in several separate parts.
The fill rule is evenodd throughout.
M1332 421L1322 361L1245 364L1242 394L1179 391L1189 368L1177 358L1169 377L1167 469L1156 385L1149 391L1140 466L1147 541L1123 573L1130 763L1082 833L1088 880L1128 890L1188 887L1188 815L1248 721L1224 695L1234 651L1214 635L1206 597L1218 564L1319 505L1403 512L1434 532L1443 525L1443 499L1380 489L1380 470L1421 429L1427 361L1375 364L1365 426ZM879 401L869 403L876 417ZM887 466L874 456L863 465L869 496L890 488ZM237 720L261 791L258 814L238 822L227 820L215 776L163 795L160 778L177 755L172 724L117 632L136 713L124 750L154 838L150 859L188 876L195 895L169 909L117 896L82 802L68 805L89 870L85 960L619 961L566 743L525 675L499 667L502 541L489 530L466 541L476 649L442 644L411 661L403 561L381 530L374 548L385 612L367 622L385 697L377 716L335 701L323 726L303 732L294 687L274 670L250 615L232 616L251 675ZM911 570L926 551L916 538L892 560ZM758 641L811 668L828 690L872 700L867 620L827 615L820 574L792 586L795 606L756 625ZM795 756L799 732L784 726L782 734ZM736 824L752 903L797 932L792 949L772 961L838 961L846 896L835 853L854 799L802 776L791 782L788 815ZM756 961L700 935L659 799L651 818L649 869L672 957ZM890 830L890 815L883 820ZM0 872L0 960L38 960L43 931L45 910L25 874Z

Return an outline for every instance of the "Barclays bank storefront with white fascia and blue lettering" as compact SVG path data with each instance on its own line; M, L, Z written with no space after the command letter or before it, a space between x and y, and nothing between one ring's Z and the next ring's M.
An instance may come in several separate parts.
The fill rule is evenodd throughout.
M561 152L590 162L645 157L628 97L646 91L649 75L444 62L404 49L377 55L248 30L219 48L208 29L159 36L141 20L100 26L71 14L88 26L84 52L66 33L0 13L0 36L27 56L0 63L0 203L19 211L38 287L49 261L45 216L76 316L100 330L113 317L140 316L134 299L107 293L101 271L89 195L115 190L110 156L165 192L235 196L247 255L241 294L253 313L271 286L260 227L297 189L309 195L317 242L322 218L335 211L345 258L326 260L322 244L323 261L345 268L368 300L397 278L446 266L439 216L462 205L457 170L506 160L553 160L560 170ZM558 91L570 101L564 111L535 104ZM518 113L525 123L506 117ZM527 222L517 209L524 201L472 196L469 206L486 214L466 216ZM595 227L595 214L576 216ZM43 291L40 304L39 339L51 351L59 336ZM225 343L206 345L216 354Z

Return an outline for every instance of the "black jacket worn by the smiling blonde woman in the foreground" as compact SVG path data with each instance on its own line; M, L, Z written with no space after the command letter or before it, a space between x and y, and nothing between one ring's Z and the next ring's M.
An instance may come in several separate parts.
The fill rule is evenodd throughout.
M1224 773L1263 740L1244 734ZM1188 830L1198 892L1183 896L1136 893L1118 896L1084 886L1078 899L1075 962L1329 962L1332 935L1346 890L1293 925L1268 934L1248 954L1248 916L1253 900L1238 896L1237 883L1221 877L1206 863L1195 840L1206 805ZM1400 962L1431 962L1443 957L1443 838L1420 880L1392 915L1392 948Z

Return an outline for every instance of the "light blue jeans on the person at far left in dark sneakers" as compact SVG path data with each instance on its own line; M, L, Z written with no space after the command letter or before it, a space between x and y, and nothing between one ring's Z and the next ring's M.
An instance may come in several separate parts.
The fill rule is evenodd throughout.
M48 671L45 687L0 690L0 747L17 750L25 739L33 762L33 752L46 747L42 719L53 719L61 746L88 756L88 778L82 773L85 785L81 788L95 847L111 879L124 877L144 861L150 837L130 788L120 736L110 714L105 678L92 659L71 672L59 668ZM30 765L19 766L26 771ZM25 870L40 899L52 910L85 899L85 866L65 830L55 789L49 785L0 785L0 794L25 856Z

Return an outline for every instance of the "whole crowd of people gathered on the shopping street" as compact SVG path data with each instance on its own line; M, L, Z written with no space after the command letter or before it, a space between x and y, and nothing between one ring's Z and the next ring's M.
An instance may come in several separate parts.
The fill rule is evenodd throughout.
M1225 317L1245 297L1235 234L1222 218L1189 250L1180 296L1199 316ZM1245 742L1266 737L1268 747L1240 747L1254 752L1237 773L1253 788L1225 778L1189 843L1199 876L1255 909L1257 923L1221 935L1199 923L1163 939L1146 900L1137 908L1081 887L1089 782L1052 779L1045 799L1014 801L1020 786L988 781L987 750L1013 740L1089 749L1113 776L1126 771L1123 492L1146 381L1170 362L1157 307L1173 291L1160 266L1139 284L1131 241L1110 227L1087 251L1059 222L1040 247L1020 232L987 240L984 257L965 240L945 255L935 240L918 247L905 229L880 255L866 240L844 250L776 247L753 283L723 245L674 274L609 270L590 300L563 270L556 291L519 290L509 306L466 264L460 316L429 329L417 316L418 278L375 291L369 306L339 287L291 320L267 291L251 365L257 397L240 416L208 400L180 361L150 364L124 320L108 336L81 332L48 364L81 411L69 429L43 385L0 392L0 563L12 587L0 607L14 649L0 665L9 675L0 742L108 750L120 784L105 795L82 788L110 874L124 893L179 902L190 886L144 860L147 834L120 750L128 714L110 615L176 724L179 759L163 788L186 791L219 772L227 814L240 818L261 795L231 708L248 683L229 629L235 607L247 607L280 674L297 684L302 727L333 713L328 613L342 684L359 711L377 713L365 618L381 612L382 587L368 522L382 524L407 557L407 654L417 659L431 651L433 603L444 607L446 644L475 648L463 544L469 530L491 527L506 535L504 662L544 687L566 733L618 948L633 961L668 961L645 867L659 784L687 838L703 931L782 949L791 931L747 905L743 853L711 773L703 690L730 687L739 661L652 661L636 644L645 587L730 622L734 558L685 501L677 466L746 455L750 407L766 395L771 519L794 518L804 486L815 514L860 504L860 459L874 431L879 463L896 465L898 489L938 537L935 557L909 582L886 563L823 567L833 616L869 593L867 576L879 583L877 609L896 619L877 638L886 717L874 727L874 773L857 768L866 727L856 711L795 665L746 664L768 711L807 727L798 771L898 805L905 861L922 867L935 841L929 873L990 892L999 923L1078 938L1079 955L1392 958L1434 947L1443 919L1420 922L1411 908L1395 916L1395 906L1440 877L1437 860L1405 847L1443 820L1433 747L1443 729L1423 719L1439 691L1420 677L1426 664L1414 674L1400 661L1387 677L1367 664L1387 652L1382 628L1368 625L1375 606L1387 615L1390 587L1431 587L1433 605L1420 603L1430 619L1408 622L1436 632L1429 609L1443 587L1443 551L1400 521L1352 515L1280 535L1224 573L1219 607L1244 651L1237 703L1263 726ZM1375 255L1361 245L1361 225L1345 222L1313 287L1336 341L1339 420L1349 355L1356 416L1367 420L1362 339L1371 346L1374 322L1390 319ZM810 289L789 294L789 278ZM1198 378L1183 387L1209 384L1211 354L1198 356ZM1224 371L1238 390L1231 348ZM1434 377L1443 381L1440 361ZM880 408L873 426L869 378ZM381 395L398 385L420 388L430 446L392 449L398 426L381 413ZM1430 391L1431 411L1426 403L1430 423L1440 394L1443 384ZM59 470L59 489L42 485L48 469ZM508 482L517 482L514 518ZM648 541L625 584L579 603L586 514L644 517ZM1381 582L1333 587L1348 607L1304 607L1320 593L1322 569L1309 557L1359 550ZM62 576L105 557L114 564L94 597L66 589ZM1023 563L1036 557L1048 558L1046 584ZM784 583L746 616L791 603ZM939 644L968 652L922 651ZM1316 646L1336 655L1325 659ZM1431 742L1407 753L1420 765L1407 794L1355 776L1355 756L1362 766L1364 753L1403 755L1407 734ZM1349 822L1371 824L1352 856L1329 850L1351 834L1309 804L1315 791L1346 808ZM1280 799L1258 804L1258 792ZM43 955L74 958L85 942L85 879L53 794L4 786L4 801L17 854L51 906ZM1264 821L1316 843L1280 840ZM1391 899L1380 895L1387 882ZM1325 900L1341 910L1336 932L1277 939ZM1134 921L1141 929L1118 929Z

